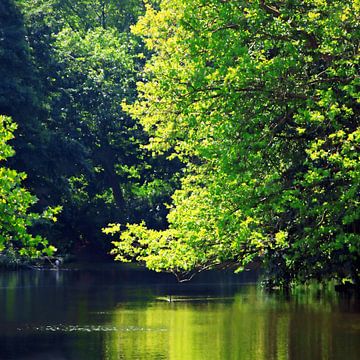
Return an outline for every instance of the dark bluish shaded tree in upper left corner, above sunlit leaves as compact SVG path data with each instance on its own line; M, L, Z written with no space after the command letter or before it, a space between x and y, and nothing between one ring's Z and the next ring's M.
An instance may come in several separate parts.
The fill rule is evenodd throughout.
M16 161L10 162L32 177L44 158L43 104L23 16L13 0L0 4L0 34L0 114L18 124Z

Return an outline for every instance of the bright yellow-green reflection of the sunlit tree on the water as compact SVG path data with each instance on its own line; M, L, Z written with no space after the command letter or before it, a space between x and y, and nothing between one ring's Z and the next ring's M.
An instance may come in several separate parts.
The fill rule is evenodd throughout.
M103 357L355 359L356 337L348 341L338 337L338 321L346 319L330 308L319 309L317 301L313 305L308 300L299 304L259 295L255 287L248 287L232 301L123 304L114 312L112 324L140 330L106 334ZM344 336L351 321L347 325L341 329Z

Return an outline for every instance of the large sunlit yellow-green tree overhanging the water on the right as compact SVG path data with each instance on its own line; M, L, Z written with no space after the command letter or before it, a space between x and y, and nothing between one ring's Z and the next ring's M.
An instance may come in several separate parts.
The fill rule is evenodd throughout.
M186 163L169 229L128 225L122 261L189 277L263 262L270 284L359 281L357 1L179 1L134 32L154 56L129 106ZM118 225L106 232L121 231Z

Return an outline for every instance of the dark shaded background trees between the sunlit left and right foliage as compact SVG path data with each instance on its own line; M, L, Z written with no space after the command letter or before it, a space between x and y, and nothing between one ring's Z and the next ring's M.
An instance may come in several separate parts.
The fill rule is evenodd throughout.
M28 174L35 209L63 206L44 234L62 251L106 251L100 229L111 220L164 226L178 162L152 159L141 148L147 135L121 107L135 100L144 64L142 43L129 33L142 2L0 6L0 110L19 124L11 166Z

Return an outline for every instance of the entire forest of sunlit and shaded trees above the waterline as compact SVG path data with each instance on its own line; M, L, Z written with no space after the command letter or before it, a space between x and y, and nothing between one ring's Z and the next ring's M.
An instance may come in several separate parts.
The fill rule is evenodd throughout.
M359 0L1 0L0 262L360 285Z

